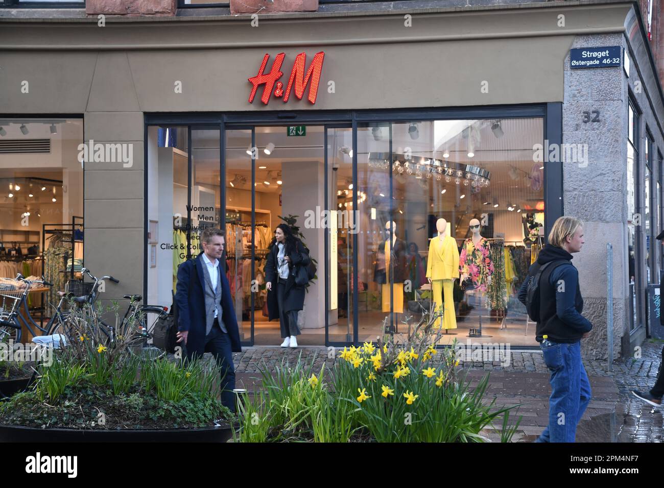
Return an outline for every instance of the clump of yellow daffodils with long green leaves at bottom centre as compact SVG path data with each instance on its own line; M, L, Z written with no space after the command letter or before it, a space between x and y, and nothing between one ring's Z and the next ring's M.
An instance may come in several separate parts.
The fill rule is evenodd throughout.
M402 341L385 321L377 344L345 347L329 370L301 357L262 368L262 390L240 403L235 442L487 442L501 417L509 442L517 406L486 401L488 373L471 391L455 345L436 349L440 315L431 308Z

